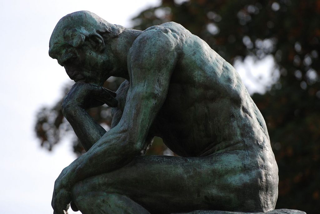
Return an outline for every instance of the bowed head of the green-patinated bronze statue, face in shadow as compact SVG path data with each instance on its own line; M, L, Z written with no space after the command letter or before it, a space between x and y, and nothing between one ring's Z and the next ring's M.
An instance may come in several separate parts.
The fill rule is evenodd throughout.
M54 28L49 55L57 59L76 82L101 82L107 75L103 73L112 69L112 56L106 50L105 41L119 36L122 30L89 11L70 13Z

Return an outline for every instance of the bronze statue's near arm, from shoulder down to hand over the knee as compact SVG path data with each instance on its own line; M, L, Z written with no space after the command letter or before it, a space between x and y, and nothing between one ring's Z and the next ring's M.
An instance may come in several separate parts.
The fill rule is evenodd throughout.
M162 32L145 32L136 39L128 55L130 88L122 118L61 172L52 198L55 213L63 213L76 182L121 168L141 154L166 98L176 61L174 42Z

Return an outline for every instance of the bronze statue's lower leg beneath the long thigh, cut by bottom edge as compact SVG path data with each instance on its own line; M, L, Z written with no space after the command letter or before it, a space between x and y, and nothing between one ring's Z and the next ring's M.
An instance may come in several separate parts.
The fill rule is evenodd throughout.
M150 214L130 198L116 193L83 191L74 198L82 214Z

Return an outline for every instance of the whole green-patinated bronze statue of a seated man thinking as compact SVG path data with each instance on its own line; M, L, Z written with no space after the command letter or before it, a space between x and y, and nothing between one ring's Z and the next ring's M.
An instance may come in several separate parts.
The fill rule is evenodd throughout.
M87 151L57 178L55 214L69 203L83 214L275 208L260 111L235 69L180 24L140 31L74 12L54 28L49 55L76 82L62 111ZM102 87L110 76L126 79L116 93ZM109 131L86 112L104 103ZM155 136L180 157L144 156Z

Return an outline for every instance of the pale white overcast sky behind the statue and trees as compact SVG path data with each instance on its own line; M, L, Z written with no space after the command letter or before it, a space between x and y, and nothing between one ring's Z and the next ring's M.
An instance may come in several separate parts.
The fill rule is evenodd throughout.
M51 106L62 95L68 76L48 56L53 28L68 13L88 10L113 24L131 27L130 19L159 0L11 0L0 2L0 213L52 213L53 184L61 170L75 158L71 144L62 142L49 153L35 138L37 110ZM180 2L180 1L179 1ZM245 66L244 66L245 65ZM253 65L252 59L236 66L259 70L268 79L272 59ZM257 72L253 72L258 75ZM261 84L246 78L250 92ZM258 86L257 86L258 85ZM260 87L260 88L259 88ZM69 210L70 213L74 213Z

